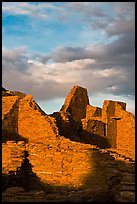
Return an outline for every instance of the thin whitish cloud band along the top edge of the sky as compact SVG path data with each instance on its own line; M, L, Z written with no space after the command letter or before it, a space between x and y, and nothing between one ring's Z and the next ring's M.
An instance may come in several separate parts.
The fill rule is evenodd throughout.
M50 17L59 21L78 19L93 26L96 20L95 27L98 29L98 23L104 28L115 20L115 16L122 20L130 19L135 13L134 7L134 2L2 2L2 12L7 15L25 15L44 20Z

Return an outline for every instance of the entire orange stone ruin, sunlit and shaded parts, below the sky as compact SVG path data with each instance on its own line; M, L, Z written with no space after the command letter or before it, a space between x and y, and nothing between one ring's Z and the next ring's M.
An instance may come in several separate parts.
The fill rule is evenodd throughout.
M135 202L135 116L126 103L94 107L74 86L48 115L31 94L2 88L2 201Z

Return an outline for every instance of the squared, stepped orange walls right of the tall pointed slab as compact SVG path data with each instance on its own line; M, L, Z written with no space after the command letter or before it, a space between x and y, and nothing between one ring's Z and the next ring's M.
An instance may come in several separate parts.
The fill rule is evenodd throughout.
M135 159L135 117L126 111L126 103L105 100L103 107L87 105L83 130L105 136L110 147Z

